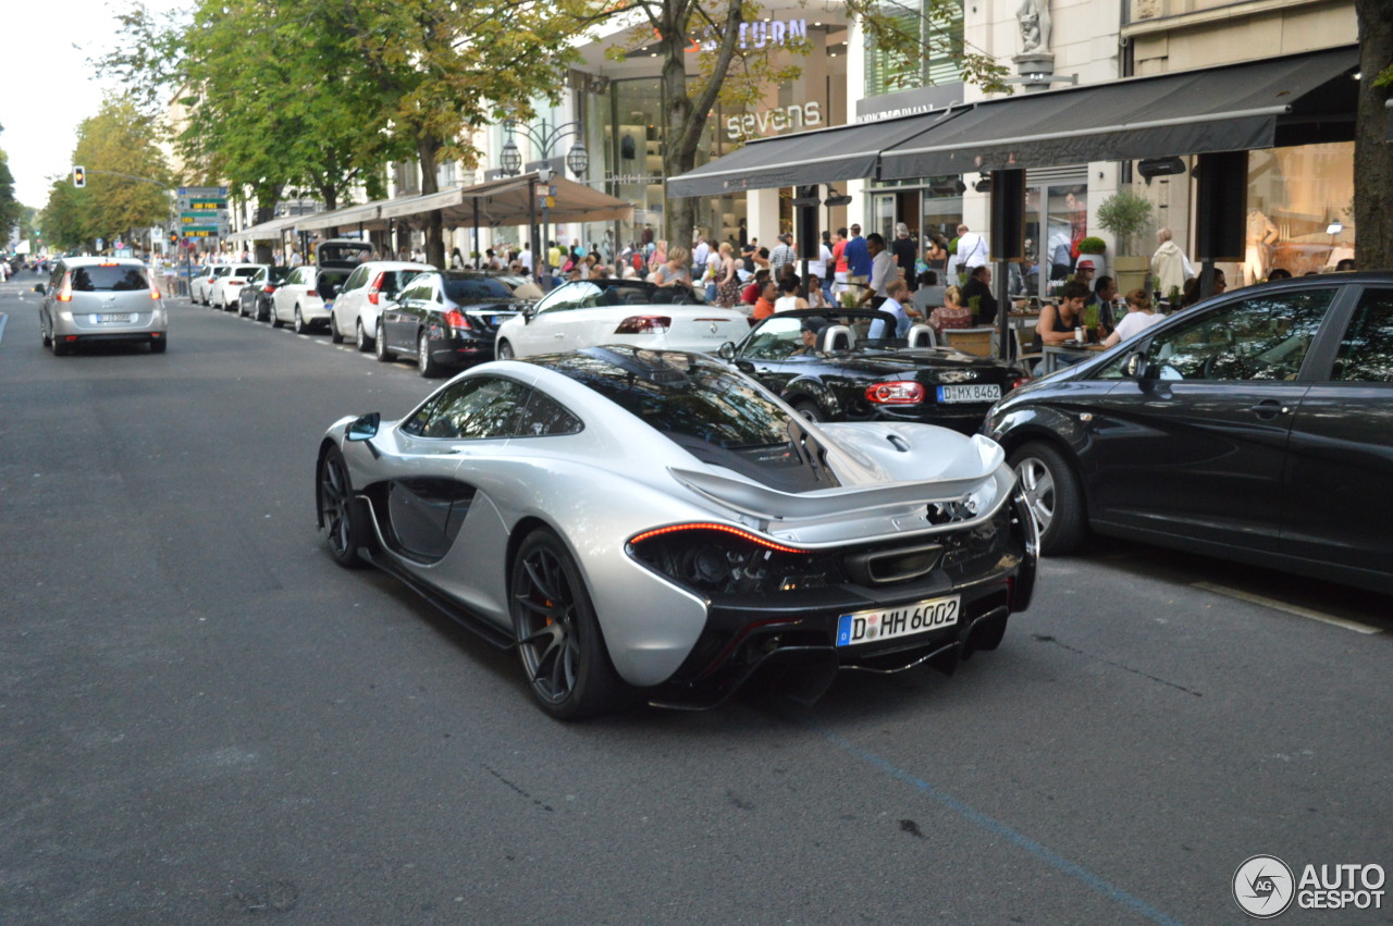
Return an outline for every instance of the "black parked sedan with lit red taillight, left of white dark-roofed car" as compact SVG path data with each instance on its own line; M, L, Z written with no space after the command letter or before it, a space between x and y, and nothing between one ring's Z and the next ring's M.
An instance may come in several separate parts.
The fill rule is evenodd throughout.
M495 277L469 270L422 273L383 309L379 361L411 356L422 376L493 359L499 326L527 306Z

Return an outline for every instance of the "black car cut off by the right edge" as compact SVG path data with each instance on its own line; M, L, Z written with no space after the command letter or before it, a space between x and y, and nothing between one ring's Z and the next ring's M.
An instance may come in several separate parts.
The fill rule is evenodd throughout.
M1031 383L983 433L1045 553L1091 528L1393 593L1393 274L1226 294Z

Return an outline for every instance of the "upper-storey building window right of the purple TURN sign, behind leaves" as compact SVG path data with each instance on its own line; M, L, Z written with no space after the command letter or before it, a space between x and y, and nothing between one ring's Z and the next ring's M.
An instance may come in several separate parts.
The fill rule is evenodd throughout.
M889 49L866 47L866 96L963 79L963 3L936 6L932 0L880 4L880 14L894 19L901 33L917 36L919 47L929 53L907 60Z

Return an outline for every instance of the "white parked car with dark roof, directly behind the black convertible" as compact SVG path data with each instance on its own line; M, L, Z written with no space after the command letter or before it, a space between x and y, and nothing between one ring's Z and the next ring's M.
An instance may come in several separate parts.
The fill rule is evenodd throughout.
M715 354L749 333L734 309L698 302L685 287L642 280L566 283L521 316L504 322L496 337L499 359L628 344L662 351Z

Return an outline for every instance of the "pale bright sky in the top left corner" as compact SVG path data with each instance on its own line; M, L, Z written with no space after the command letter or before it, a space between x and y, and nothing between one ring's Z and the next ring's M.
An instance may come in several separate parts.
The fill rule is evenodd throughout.
M42 209L49 202L52 177L72 168L78 123L96 116L102 104L103 85L88 58L114 47L116 14L130 0L3 6L0 39L7 79L0 95L0 149L10 157L15 198ZM146 6L163 11L188 4L146 0Z

